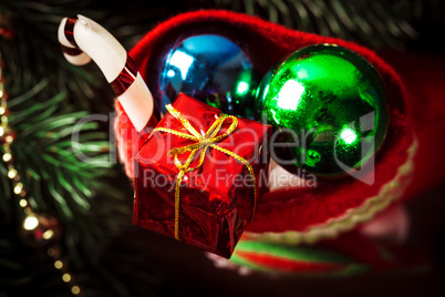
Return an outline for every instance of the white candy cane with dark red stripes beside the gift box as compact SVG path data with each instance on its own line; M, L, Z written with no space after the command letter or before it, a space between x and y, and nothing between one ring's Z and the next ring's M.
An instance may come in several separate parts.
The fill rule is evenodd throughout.
M93 60L97 64L141 132L153 115L153 96L122 44L102 25L80 14L64 18L58 37L70 63L83 65Z

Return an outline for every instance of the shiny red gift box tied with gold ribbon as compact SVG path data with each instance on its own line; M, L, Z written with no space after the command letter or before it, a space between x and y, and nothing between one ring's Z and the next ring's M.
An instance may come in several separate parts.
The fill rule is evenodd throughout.
M270 133L179 94L135 156L133 223L229 258L267 176Z

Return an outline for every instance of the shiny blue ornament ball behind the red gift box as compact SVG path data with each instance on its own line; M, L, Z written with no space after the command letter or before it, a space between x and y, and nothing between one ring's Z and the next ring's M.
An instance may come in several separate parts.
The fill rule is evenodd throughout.
M241 48L222 35L179 39L166 55L159 80L163 113L165 104L184 92L227 114L253 116L258 74Z

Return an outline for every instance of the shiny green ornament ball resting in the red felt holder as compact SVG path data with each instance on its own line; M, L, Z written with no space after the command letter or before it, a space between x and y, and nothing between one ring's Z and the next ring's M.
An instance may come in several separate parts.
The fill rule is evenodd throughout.
M293 52L262 79L256 120L276 131L271 156L291 173L341 176L366 164L390 124L377 71L356 52L317 44Z

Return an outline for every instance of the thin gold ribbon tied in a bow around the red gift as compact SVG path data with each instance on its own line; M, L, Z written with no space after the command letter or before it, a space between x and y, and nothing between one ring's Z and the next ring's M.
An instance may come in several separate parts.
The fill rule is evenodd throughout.
M183 126L190 133L183 133L183 132L178 132L175 131L173 129L167 129L167 127L156 127L153 130L153 133L158 131L158 132L166 132L166 133L170 133L173 135L183 137L183 139L187 139L190 141L194 141L196 143L193 144L188 144L186 146L182 146L182 147L174 147L172 148L168 153L170 155L175 156L175 165L176 167L179 170L178 175L176 176L176 184L175 184L175 238L179 239L179 190L180 190L180 182L183 181L184 175L189 172L189 171L194 171L199 168L203 165L204 162L204 157L206 155L206 151L208 147L218 150L225 154L228 154L231 157L235 157L237 161L241 162L247 170L249 171L250 175L253 177L253 212L256 208L256 188L257 188L257 184L256 184L256 177L255 177L255 173L253 173L253 168L252 166L249 164L249 162L235 154L234 152L230 152L229 150L226 150L221 146L219 146L217 143L219 141L221 141L222 139L227 137L229 134L231 134L238 125L238 120L236 116L234 115L227 115L227 114L221 114L213 124L207 130L206 134L203 136L201 134L199 134L195 127L192 126L192 124L187 121L187 119L185 119L177 110L175 110L170 104L166 104L165 105L168 110L168 112L176 119L178 120ZM222 124L228 121L231 120L231 124L228 127L228 130L226 131L226 133L217 136L217 134L219 133ZM192 162L195 160L196 154L200 151L200 155L199 155L199 162L196 166L190 167ZM190 154L188 155L186 162L184 164L182 164L178 160L178 155L180 154L185 154L190 152ZM252 213L253 216L253 213ZM251 217L252 217L251 216Z

